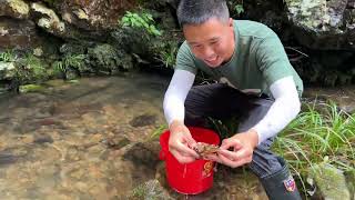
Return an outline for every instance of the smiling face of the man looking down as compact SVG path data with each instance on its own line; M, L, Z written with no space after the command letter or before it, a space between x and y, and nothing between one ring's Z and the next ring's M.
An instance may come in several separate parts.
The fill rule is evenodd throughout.
M234 52L232 19L222 22L212 18L202 24L185 24L183 32L194 56L211 68L229 61Z

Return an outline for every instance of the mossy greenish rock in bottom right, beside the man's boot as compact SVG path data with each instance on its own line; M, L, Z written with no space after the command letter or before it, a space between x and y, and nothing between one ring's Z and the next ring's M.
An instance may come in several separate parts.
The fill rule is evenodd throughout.
M314 167L310 172L317 191L316 197L321 199L344 199L351 200L344 172L326 163Z

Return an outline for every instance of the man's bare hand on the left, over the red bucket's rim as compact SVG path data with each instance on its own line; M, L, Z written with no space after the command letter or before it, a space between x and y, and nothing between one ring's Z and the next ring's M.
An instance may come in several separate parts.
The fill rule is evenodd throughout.
M183 122L173 121L170 124L169 150L181 163L187 163L199 158L192 149L196 141L192 138Z

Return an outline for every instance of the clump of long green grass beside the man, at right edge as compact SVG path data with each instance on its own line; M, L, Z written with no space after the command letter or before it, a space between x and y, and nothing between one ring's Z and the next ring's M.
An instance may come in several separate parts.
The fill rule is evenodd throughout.
M355 114L338 111L332 102L325 107L317 111L314 104L307 106L274 143L273 150L300 173L325 159L341 170L355 167Z

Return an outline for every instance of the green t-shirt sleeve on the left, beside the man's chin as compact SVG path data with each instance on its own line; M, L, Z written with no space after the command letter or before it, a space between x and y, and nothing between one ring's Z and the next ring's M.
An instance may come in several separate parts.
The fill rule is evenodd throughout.
M178 51L175 70L186 70L193 74L197 73L197 68L194 63L194 56L192 54L186 41L183 42Z

